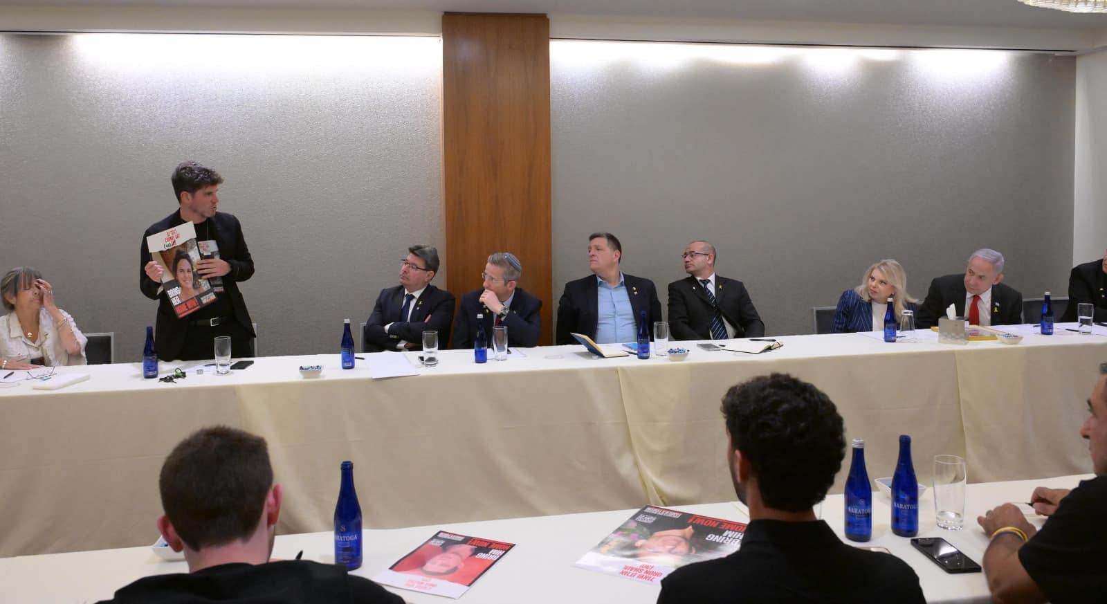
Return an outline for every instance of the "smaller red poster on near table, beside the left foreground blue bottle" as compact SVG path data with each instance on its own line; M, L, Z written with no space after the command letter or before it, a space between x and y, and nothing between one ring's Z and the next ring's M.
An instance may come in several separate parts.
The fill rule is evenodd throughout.
M457 598L514 546L515 543L438 531L373 581Z

